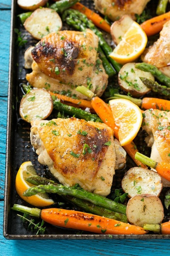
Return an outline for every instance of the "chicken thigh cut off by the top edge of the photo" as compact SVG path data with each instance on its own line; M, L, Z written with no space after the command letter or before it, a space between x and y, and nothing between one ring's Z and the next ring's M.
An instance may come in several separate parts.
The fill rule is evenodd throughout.
M96 9L115 21L118 17L128 14L135 18L135 14L141 14L150 0L94 0Z

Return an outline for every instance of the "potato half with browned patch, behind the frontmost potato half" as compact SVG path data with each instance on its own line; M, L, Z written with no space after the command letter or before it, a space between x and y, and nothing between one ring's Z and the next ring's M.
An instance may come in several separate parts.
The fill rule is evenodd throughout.
M142 167L130 168L122 179L122 188L128 197L139 194L159 196L162 190L161 176Z

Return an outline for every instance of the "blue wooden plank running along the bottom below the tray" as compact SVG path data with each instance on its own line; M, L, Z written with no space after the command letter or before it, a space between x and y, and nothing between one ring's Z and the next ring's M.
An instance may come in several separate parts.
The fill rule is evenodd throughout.
M17 212L16 212L17 214ZM19 218L19 217L18 217ZM6 240L2 234L3 201L0 202L0 251L3 256L39 255L169 255L169 240Z

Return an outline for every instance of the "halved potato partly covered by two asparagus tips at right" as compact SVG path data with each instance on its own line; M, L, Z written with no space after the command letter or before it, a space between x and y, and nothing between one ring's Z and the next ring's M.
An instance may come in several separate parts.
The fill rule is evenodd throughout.
M135 68L137 63L125 64L118 74L118 82L122 90L129 92L134 97L140 97L151 89L145 86L139 77L146 77L154 81L151 73Z

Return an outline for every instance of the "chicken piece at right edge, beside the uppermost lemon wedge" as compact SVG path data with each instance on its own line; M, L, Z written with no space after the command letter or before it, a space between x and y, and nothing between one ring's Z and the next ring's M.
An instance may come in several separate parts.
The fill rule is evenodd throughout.
M166 22L160 32L160 38L146 49L142 61L155 65L157 68L170 66L170 20ZM170 71L169 71L170 76Z

